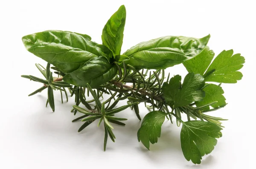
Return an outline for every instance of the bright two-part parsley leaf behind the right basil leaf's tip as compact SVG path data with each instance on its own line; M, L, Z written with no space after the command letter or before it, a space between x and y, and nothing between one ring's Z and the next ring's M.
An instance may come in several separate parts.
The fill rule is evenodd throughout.
M207 47L198 56L184 62L183 65L188 72L204 75L206 82L236 83L243 76L237 70L243 67L244 57L240 54L232 55L233 50L224 50L210 65L214 53Z

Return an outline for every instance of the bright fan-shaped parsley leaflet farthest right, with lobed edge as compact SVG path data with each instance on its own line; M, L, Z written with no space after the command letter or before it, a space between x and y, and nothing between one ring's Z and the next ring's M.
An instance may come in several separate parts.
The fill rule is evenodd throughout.
M233 50L222 51L204 73L206 82L236 83L243 75L237 71L243 67L244 57Z

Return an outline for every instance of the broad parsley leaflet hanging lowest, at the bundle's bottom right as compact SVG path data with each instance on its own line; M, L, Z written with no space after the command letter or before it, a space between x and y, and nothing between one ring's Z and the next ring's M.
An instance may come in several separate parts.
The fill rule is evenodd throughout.
M187 121L180 132L183 155L187 161L200 164L202 156L209 154L220 138L221 127L207 121Z

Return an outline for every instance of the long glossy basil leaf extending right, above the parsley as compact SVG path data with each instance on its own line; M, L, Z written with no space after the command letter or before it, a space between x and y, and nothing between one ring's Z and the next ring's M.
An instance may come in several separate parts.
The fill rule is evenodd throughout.
M192 37L160 37L141 42L124 53L126 64L137 69L165 69L192 59L204 50L210 35L201 39Z

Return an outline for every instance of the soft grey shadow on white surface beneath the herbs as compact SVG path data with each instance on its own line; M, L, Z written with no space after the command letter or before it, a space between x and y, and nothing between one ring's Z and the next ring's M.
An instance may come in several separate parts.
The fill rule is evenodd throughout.
M39 98L44 102L46 101L46 98L43 96L39 96ZM77 130L81 127L83 122L76 121L72 123L71 121L82 114L74 116L73 113L70 113L72 105L72 101L65 102L64 104L56 101L55 113L52 113L49 106L47 108L42 107L38 109L35 113L32 113L32 115L30 115L31 118L28 118L26 121L28 123L26 126L28 134L37 139L38 143L40 143L40 141L46 141L46 143L56 141L60 146L75 145L73 148L82 154L87 153L84 150L88 149L88 147L103 152L105 134L103 123L100 127L97 127L99 120L96 120L78 133ZM141 142L138 142L137 131L140 128L141 121L137 119L135 113L127 109L124 112L117 113L116 116L128 118L128 120L122 121L126 124L125 126L112 124L116 140L115 143L113 143L111 139L108 138L108 151L135 149L137 153L144 155L149 161L153 161L154 163L161 163L166 160L171 162L181 158L184 159L180 146L180 127L177 127L175 123L171 124L170 121L164 122L161 137L158 138L156 144L150 144L150 151L148 151ZM143 114L141 118L143 118ZM186 160L184 159L184 161ZM211 162L212 157L208 156L202 161L201 165ZM198 165L191 167L196 166Z

